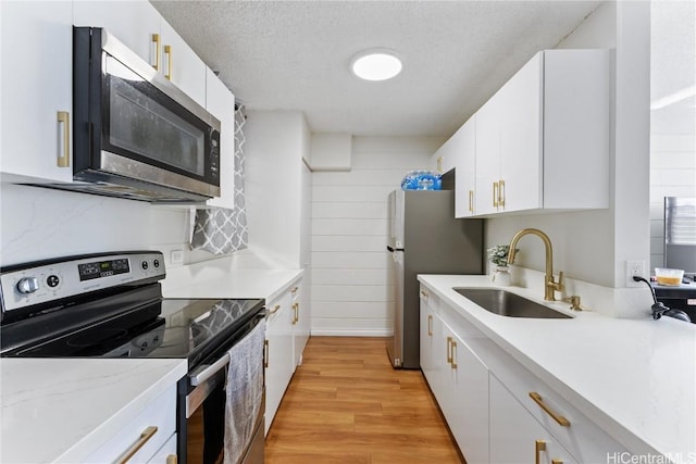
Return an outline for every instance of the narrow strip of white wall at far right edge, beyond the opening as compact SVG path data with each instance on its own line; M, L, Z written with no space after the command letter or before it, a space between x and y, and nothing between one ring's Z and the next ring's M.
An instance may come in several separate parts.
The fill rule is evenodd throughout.
M652 2L650 14L650 268L663 265L664 197L696 197L696 4Z

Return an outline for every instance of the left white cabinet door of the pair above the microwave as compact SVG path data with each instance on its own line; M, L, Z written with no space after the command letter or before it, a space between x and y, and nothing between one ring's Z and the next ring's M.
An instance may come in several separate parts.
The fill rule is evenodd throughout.
M160 13L147 1L76 1L76 26L103 27L142 60L157 66ZM161 55L160 55L161 63Z

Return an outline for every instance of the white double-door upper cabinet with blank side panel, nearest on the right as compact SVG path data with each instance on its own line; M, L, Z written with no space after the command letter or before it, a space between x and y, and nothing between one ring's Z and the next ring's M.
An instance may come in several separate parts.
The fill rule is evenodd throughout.
M608 208L609 72L606 50L547 50L481 108L476 215Z

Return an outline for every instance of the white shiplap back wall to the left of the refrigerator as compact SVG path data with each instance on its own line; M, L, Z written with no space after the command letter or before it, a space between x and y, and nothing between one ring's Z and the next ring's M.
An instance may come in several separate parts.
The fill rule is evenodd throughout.
M351 171L312 174L312 334L391 334L387 193L443 142L356 137Z

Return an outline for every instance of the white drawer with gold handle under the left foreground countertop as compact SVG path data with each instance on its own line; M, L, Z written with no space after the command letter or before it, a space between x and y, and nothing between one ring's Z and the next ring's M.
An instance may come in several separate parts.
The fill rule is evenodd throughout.
M151 427L157 427L157 430ZM173 385L89 455L86 462L117 462L128 450L142 443L128 463L146 463L175 431L176 385Z

